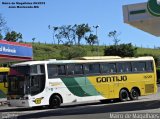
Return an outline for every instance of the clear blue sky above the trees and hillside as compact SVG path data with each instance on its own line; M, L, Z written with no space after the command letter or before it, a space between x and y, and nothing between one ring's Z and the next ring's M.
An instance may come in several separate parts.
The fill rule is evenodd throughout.
M2 2L45 2L39 8L8 8ZM20 32L23 41L52 43L52 31L48 25L62 26L88 23L99 25L97 35L100 45L112 45L108 37L116 30L120 43L132 43L146 48L160 47L160 38L123 22L122 6L147 2L147 0L0 0L0 14L10 30ZM92 28L95 33L95 29Z

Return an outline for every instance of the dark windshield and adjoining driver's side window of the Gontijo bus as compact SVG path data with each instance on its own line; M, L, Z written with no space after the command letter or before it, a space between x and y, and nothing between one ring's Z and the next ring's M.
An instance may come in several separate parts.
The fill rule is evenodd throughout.
M44 89L44 66L11 67L8 78L9 95L35 95Z

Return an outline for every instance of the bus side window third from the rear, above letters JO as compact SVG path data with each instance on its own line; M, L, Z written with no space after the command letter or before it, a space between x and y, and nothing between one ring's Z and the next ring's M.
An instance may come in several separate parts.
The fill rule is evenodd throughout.
M117 63L117 72L119 73L131 72L131 64L129 62Z

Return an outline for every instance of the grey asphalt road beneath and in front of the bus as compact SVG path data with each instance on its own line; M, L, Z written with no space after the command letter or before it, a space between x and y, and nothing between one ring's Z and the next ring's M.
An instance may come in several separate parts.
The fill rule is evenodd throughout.
M143 115L137 115L143 113ZM91 102L63 105L58 109L0 107L0 118L12 119L143 119L160 118L160 86L158 93L136 101L101 104ZM149 115L147 115L149 114Z

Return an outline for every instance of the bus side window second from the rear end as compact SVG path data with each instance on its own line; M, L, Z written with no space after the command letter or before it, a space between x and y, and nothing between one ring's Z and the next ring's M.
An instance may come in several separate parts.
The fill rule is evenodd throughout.
M146 63L145 62L133 62L132 70L133 72L144 72L146 71Z

